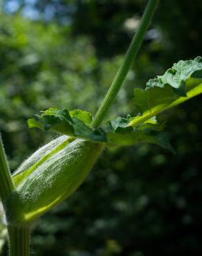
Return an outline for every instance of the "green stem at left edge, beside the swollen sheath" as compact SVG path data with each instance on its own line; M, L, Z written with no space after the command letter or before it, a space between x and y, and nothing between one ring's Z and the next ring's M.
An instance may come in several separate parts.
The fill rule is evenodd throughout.
M3 203L3 207L6 205L6 199L14 190L12 178L8 163L6 161L6 154L3 149L3 143L0 135L0 197Z

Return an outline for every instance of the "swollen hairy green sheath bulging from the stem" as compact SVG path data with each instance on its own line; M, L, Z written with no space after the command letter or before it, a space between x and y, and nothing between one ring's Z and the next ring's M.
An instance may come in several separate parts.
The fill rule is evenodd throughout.
M84 181L104 145L61 136L38 149L13 175L8 223L26 225L66 199Z

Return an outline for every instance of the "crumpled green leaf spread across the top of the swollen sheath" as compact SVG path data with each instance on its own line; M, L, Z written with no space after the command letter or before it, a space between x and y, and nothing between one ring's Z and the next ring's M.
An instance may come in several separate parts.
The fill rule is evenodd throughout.
M163 140L161 135L157 134L157 131L163 129L164 124L158 124L155 118L152 118L134 128L129 125L133 119L134 118L130 115L128 115L127 118L118 117L115 120L107 121L102 128L92 129L88 124L83 122L85 120L89 123L91 120L91 116L85 111L48 109L42 111L41 115L29 119L28 125L30 127L37 127L39 129L55 131L59 134L71 136L70 140L73 137L83 138L92 142L104 143L106 146L155 143L173 151L168 140ZM44 156L44 158L47 158L47 156ZM42 158L42 161L44 158ZM17 181L15 181L15 183L16 182Z

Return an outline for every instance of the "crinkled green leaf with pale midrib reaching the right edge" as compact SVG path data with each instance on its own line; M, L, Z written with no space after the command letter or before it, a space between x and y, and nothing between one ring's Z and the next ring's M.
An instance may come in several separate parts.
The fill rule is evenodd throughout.
M202 93L202 58L180 61L164 75L147 82L146 89L135 89L134 102L140 115L131 120L135 126Z

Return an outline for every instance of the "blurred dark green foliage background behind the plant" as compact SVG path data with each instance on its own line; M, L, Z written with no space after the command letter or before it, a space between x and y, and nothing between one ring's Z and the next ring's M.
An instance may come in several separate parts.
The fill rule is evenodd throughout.
M143 0L0 1L0 129L11 170L55 134L28 129L48 107L95 113L134 35ZM136 113L133 91L201 53L202 2L161 0L109 117ZM202 253L202 97L163 113L176 155L106 149L88 179L35 225L37 256ZM6 255L0 227L1 255Z

